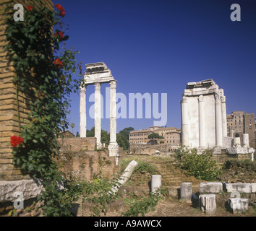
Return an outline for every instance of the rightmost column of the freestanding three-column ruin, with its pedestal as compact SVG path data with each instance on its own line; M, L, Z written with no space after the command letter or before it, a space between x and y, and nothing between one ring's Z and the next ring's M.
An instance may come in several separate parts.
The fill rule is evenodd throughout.
M108 145L109 156L118 154L118 144L116 143L116 80L110 82L110 142Z

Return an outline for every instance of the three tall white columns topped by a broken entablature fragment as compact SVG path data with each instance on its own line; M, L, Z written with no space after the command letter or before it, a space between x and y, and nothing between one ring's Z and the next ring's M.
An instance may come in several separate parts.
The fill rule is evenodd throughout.
M101 149L101 84L109 83L110 92L110 142L108 145L109 156L118 154L119 146L116 143L116 80L111 74L110 69L104 64L86 64L85 85L80 88L80 136L86 137L86 88L94 84L95 87L95 137L97 148Z

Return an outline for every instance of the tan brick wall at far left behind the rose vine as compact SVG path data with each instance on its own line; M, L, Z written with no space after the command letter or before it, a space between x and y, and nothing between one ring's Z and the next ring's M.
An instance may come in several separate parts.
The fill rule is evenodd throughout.
M54 9L51 0L42 0L49 9ZM29 176L22 173L12 164L12 146L9 143L10 136L19 136L19 124L17 114L16 87L12 82L15 75L12 62L9 62L7 52L4 52L6 45L5 29L6 20L4 9L7 4L20 3L27 8L29 4L35 4L35 1L22 0L0 0L0 180L22 180ZM18 95L20 108L20 121L25 122L27 114L30 112L30 103L33 99L19 92Z

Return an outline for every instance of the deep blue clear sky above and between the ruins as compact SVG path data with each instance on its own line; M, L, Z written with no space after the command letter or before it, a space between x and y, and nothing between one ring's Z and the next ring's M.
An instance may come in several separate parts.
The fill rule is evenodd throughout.
M77 61L103 61L118 81L116 92L167 93L166 126L180 128L180 103L187 82L213 79L226 95L227 113L256 113L256 2L252 0L53 1L66 10L67 47ZM230 19L241 6L241 22ZM105 94L103 84L101 91ZM88 102L94 92L87 90ZM80 131L80 95L71 96L70 123ZM106 100L104 98L104 100ZM128 107L128 105L127 105ZM161 110L161 108L159 108ZM117 132L153 125L155 118L119 118ZM88 129L94 121L88 115ZM102 120L109 131L109 119ZM69 129L72 131L72 128Z

